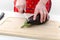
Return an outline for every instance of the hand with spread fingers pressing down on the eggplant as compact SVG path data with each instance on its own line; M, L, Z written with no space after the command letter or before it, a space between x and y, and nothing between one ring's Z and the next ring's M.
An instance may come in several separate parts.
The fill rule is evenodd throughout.
M45 4L43 4L42 2L39 2L36 5L33 20L36 19L36 16L37 16L38 13L40 13L40 22L41 23L45 22L45 20L46 20L46 18L48 16L48 11L47 11L47 9L45 7Z

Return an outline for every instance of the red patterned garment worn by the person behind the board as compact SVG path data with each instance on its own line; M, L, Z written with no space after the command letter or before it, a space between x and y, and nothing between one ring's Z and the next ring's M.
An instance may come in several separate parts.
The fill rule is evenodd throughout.
M18 12L18 8L16 8L16 1L14 0L14 12ZM34 9L36 4L38 3L39 0L26 0L26 13L34 13ZM33 2L33 4L32 4ZM51 8L51 0L49 0L46 4L46 9L49 12Z

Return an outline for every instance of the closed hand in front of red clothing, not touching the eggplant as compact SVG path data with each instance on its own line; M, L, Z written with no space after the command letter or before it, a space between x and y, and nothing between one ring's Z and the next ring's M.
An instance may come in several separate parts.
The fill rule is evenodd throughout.
M25 10L26 0L17 0L16 7L19 10L19 13L23 13L23 10Z

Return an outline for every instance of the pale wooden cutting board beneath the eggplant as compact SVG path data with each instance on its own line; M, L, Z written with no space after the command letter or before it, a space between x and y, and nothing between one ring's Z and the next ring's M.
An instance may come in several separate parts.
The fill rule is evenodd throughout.
M44 40L60 40L59 22L49 20L43 25L21 28L24 22L25 18L9 17L0 24L0 34Z

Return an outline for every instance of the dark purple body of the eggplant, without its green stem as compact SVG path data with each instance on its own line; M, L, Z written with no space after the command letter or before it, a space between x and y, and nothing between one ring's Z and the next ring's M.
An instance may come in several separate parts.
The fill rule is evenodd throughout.
M33 16L28 18L28 20L29 20L29 21L27 21L28 24L31 24L31 25L40 25L40 24L45 24L48 21L48 18L46 17L45 22L41 23L40 22L40 14L37 15L36 20L33 20Z

